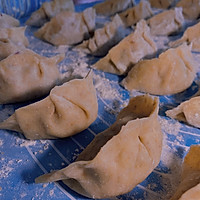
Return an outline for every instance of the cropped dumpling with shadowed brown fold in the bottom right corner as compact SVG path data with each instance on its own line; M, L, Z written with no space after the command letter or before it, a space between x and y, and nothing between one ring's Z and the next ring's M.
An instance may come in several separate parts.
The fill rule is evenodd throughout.
M186 193L183 194L184 192ZM198 194L200 194L200 145L192 145L183 162L180 185L170 200L178 200L180 197L179 200L199 200Z

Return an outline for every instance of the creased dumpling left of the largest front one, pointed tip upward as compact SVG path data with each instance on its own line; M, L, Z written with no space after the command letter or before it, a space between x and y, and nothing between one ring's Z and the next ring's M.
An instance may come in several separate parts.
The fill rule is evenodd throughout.
M0 129L23 133L28 139L64 138L83 131L98 112L92 75L54 87L49 96L21 107Z

